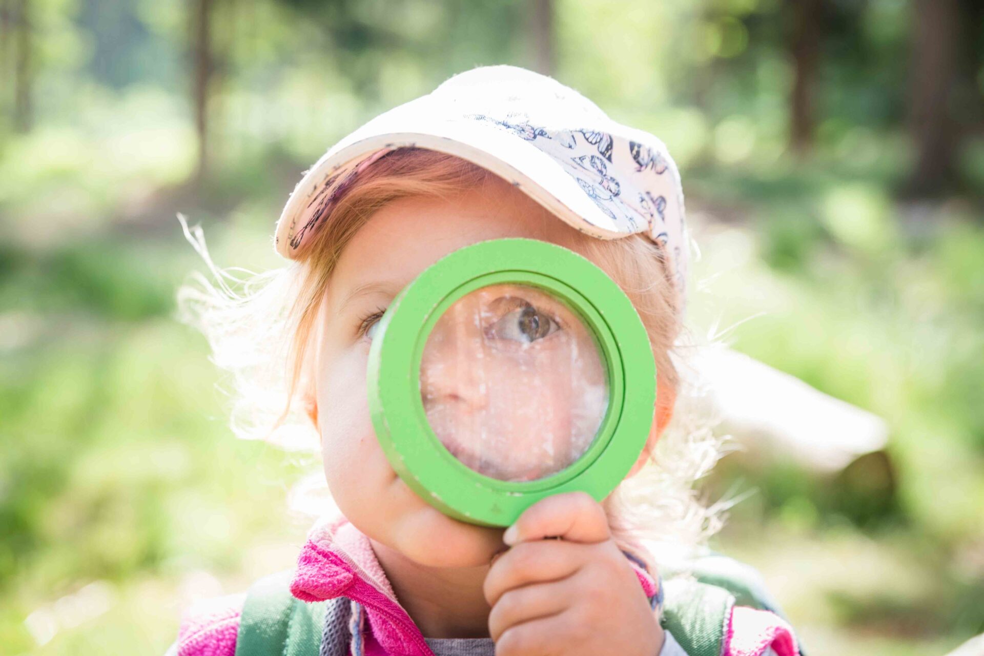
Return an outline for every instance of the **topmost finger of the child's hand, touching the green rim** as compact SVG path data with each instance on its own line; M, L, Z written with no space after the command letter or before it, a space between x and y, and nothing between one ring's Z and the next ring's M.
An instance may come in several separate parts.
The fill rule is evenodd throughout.
M604 542L611 537L605 510L586 492L566 492L527 507L503 535L508 545L557 536L571 542Z

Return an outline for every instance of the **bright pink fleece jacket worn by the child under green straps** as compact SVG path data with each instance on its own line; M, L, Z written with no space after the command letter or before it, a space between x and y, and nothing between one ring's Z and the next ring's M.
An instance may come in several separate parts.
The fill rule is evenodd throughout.
M652 577L630 564L646 596L653 595L656 583ZM400 606L369 538L344 517L311 529L297 557L290 592L303 601L345 596L362 604L369 624L366 656L434 656L420 629ZM246 593L229 595L189 610L178 630L177 655L235 656L245 598ZM762 656L769 648L777 656L796 656L792 629L772 613L736 606L722 656Z

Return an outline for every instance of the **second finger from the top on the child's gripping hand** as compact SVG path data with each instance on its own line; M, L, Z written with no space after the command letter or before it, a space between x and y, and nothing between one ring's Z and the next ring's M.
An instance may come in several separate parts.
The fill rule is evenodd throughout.
M563 540L523 542L500 556L482 584L489 606L495 606L507 590L529 583L566 578L590 560L593 545Z

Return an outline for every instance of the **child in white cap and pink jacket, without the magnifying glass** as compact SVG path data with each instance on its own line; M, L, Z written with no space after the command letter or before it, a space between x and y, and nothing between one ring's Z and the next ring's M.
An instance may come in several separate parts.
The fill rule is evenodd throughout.
M649 440L618 489L600 504L549 497L505 532L446 516L401 481L366 392L369 346L400 289L444 255L503 237L553 242L604 269L643 319L657 370ZM306 173L277 224L292 263L258 291L237 296L200 236L196 246L221 291L207 283L182 298L235 375L249 413L237 429L267 435L302 409L340 515L311 529L286 578L186 614L169 654L799 653L744 569L702 579L726 559L671 567L669 547L687 552L707 533L691 486L716 450L686 430L656 448L682 405L673 349L687 270L679 174L657 139L550 78L478 68L370 121ZM266 387L271 373L282 378ZM650 553L655 540L665 552Z

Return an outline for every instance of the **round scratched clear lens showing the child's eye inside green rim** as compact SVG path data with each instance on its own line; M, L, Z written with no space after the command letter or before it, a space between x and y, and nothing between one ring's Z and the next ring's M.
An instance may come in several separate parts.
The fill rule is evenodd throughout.
M555 474L584 454L608 405L594 335L563 301L494 284L455 302L424 345L420 392L441 443L502 481Z

